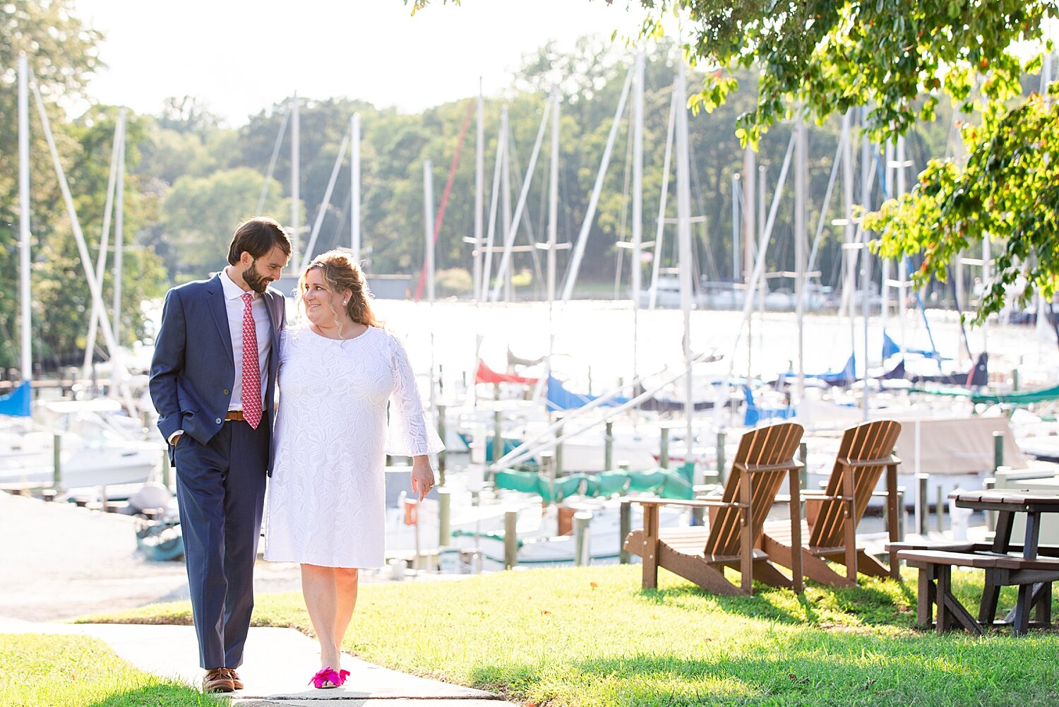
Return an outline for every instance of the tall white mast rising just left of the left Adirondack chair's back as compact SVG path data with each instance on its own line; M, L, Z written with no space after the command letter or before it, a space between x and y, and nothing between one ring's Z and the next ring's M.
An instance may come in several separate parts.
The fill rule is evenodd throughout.
M684 411L687 414L687 459L694 461L695 434L692 418L695 401L692 397L692 173L688 160L687 92L684 86L684 59L677 67L677 242L680 249L680 305L684 314ZM696 465L694 483L703 482L703 472Z

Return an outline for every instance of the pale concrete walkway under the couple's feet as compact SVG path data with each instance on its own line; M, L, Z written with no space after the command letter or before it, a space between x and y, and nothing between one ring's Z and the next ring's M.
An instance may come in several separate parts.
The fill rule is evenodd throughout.
M75 634L106 641L114 652L144 672L198 686L203 671L198 667L195 631L191 626L118 623L34 623L0 619L0 634ZM293 629L252 628L247 639L246 661L239 677L246 689L232 693L239 707L311 704L321 700L371 707L423 704L497 707L509 705L482 690L426 679L365 662L348 654L342 667L349 671L344 686L317 690L308 685L319 661L315 640ZM429 701L429 703L427 703Z

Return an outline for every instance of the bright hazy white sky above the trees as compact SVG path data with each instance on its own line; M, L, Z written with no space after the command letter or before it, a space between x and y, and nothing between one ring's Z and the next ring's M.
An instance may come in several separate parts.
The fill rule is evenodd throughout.
M298 91L418 111L508 85L549 39L635 31L626 0L434 0L410 16L402 0L75 0L104 33L108 68L89 92L157 112L166 96L195 95L232 125Z

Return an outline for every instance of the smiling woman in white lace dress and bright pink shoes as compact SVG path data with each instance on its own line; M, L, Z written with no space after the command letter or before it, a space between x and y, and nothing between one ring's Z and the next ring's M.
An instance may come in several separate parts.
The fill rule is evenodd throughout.
M405 348L376 321L348 253L331 250L309 264L298 305L307 321L288 328L280 347L265 559L301 563L320 639L321 669L310 683L329 688L348 675L341 644L358 570L384 565L385 455L412 457L412 491L421 500L434 485L427 455L444 445Z

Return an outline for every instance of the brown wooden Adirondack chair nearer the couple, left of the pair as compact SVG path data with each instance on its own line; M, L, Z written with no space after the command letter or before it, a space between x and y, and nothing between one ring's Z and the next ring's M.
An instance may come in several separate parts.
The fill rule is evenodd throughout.
M658 586L658 569L664 567L717 594L749 595L755 579L802 591L798 558L794 559L793 578L790 578L755 547L785 475L790 477L791 532L795 536L801 532L798 470L802 463L794 459L794 454L802 431L802 425L785 422L743 435L718 499L630 499L644 507L644 527L629 533L625 548L644 560L644 588ZM710 524L659 528L659 509L665 505L707 508ZM725 579L724 567L738 568L742 573L739 586Z

